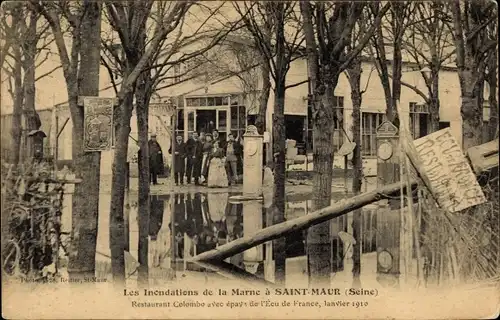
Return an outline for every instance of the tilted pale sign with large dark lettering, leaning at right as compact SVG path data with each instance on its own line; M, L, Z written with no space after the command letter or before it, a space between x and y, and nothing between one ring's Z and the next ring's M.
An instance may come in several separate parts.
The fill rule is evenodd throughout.
M458 212L486 202L467 159L449 128L413 142L439 206Z

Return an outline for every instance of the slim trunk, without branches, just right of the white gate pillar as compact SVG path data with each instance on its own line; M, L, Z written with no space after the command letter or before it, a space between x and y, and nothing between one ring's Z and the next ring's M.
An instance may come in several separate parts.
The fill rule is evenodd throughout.
M285 83L276 84L274 90L274 116L273 116L273 154L274 163L274 197L272 219L273 224L285 221ZM273 242L275 262L275 282L285 282L286 238Z

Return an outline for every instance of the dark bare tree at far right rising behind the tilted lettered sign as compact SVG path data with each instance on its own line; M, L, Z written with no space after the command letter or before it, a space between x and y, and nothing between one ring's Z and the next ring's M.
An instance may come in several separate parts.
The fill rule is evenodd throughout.
M496 20L495 2L452 1L453 40L462 96L463 148L481 144L483 124L483 86L488 56L496 52L497 39L488 36L488 27ZM496 71L495 71L496 72Z

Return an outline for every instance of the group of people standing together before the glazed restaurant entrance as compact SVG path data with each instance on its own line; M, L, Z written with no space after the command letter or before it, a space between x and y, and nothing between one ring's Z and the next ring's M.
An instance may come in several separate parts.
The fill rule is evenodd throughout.
M238 168L242 166L243 148L239 137L232 133L227 141L222 141L219 131L212 133L193 132L186 142L182 135L177 135L173 148L174 181L176 185L194 182L195 185L209 184L209 180L218 179L228 185L239 182ZM172 154L172 147L169 149Z

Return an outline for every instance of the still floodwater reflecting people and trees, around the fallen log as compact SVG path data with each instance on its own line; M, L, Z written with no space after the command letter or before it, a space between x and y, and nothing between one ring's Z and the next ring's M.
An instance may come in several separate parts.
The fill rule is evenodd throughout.
M152 285L160 285L184 278L213 274L198 264L189 262L196 254L215 249L229 241L252 235L265 228L268 208L265 201L233 201L237 193L175 193L150 197L150 221L147 250L148 277ZM341 196L342 197L342 196ZM139 266L139 224L137 195L132 194L126 202L129 220L129 253L126 253L128 281L136 281ZM100 216L96 254L96 276L110 278L109 249L109 194L101 194ZM334 198L332 203L340 199ZM294 197L286 202L285 219L290 220L310 212L312 201L307 196ZM66 216L67 217L67 216ZM352 217L346 215L330 221L332 250L332 281L352 281L352 244L343 243L339 231L352 234ZM63 222L64 223L64 222ZM65 225L70 225L66 219ZM376 273L375 209L363 208L362 220L362 278L363 274ZM306 231L286 237L285 284L294 286L308 284ZM267 281L274 281L274 259L272 241L236 254L225 262L240 270ZM142 254L144 256L144 253ZM365 262L365 260L367 260ZM340 263L338 262L340 261ZM223 277L221 277L223 278Z

